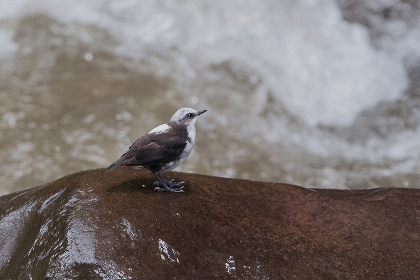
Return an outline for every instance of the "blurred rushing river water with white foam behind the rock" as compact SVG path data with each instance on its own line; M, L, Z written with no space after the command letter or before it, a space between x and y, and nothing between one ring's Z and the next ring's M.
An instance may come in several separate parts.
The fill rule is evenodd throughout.
M0 194L103 168L180 107L178 171L420 187L415 0L0 0Z

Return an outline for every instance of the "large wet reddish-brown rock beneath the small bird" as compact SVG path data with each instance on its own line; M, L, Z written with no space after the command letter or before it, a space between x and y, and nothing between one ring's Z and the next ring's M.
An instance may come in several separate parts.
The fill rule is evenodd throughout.
M89 170L0 197L0 279L416 279L420 190ZM146 185L143 187L142 185Z

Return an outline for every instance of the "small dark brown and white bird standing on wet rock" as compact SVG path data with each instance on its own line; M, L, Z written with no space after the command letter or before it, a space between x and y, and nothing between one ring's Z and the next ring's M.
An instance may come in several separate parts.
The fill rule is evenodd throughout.
M170 181L162 173L179 166L190 155L196 138L198 116L207 110L196 111L181 108L168 123L161 124L135 140L117 161L107 169L112 171L120 166L142 166L150 170L157 181L158 192L183 192L185 182Z

